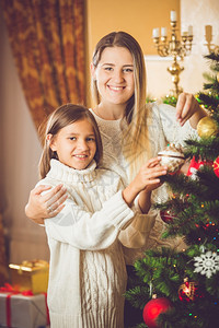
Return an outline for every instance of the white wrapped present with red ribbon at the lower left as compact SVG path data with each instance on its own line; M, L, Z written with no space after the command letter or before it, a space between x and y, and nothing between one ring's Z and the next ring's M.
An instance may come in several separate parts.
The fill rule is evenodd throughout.
M0 288L0 327L49 327L46 293L20 292L10 284Z

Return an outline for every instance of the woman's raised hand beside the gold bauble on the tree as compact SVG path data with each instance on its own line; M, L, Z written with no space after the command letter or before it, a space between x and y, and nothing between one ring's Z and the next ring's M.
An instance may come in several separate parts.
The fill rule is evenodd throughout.
M181 93L176 104L176 119L181 126L191 119L191 125L195 129L198 121L207 116L207 113L199 106L194 95Z

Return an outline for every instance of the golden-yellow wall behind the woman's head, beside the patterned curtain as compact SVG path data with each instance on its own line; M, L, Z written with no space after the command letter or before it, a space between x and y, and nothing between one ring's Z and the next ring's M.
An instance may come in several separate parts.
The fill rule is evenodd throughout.
M152 30L170 27L170 11L181 17L180 0L87 0L88 16L88 105L90 95L90 62L99 39L113 31L130 33L145 55L157 55Z

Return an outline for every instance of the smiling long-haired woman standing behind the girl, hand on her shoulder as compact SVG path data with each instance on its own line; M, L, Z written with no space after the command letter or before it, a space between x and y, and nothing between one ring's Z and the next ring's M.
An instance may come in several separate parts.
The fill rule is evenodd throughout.
M206 116L197 101L186 93L178 96L176 108L158 103L146 104L143 54L137 40L125 32L110 33L97 43L91 72L96 102L91 110L103 140L102 166L118 173L125 185L142 163L155 156L168 143L183 143L194 133L199 119ZM61 185L42 196L42 191L48 189L48 186L41 186L31 191L25 210L36 223L60 212L67 198ZM165 188L159 189L152 195L152 201L166 197ZM163 222L158 213L149 243L138 254L129 253L128 263L142 256L146 247L180 247L181 241L161 241L162 229ZM128 239L129 235L126 237Z

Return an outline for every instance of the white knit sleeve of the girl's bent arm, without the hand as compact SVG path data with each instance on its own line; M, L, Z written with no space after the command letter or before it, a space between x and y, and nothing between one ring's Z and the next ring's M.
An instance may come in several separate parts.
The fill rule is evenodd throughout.
M45 220L45 226L50 238L79 249L99 250L112 245L132 218L134 211L118 191L95 213L68 199L60 213Z

